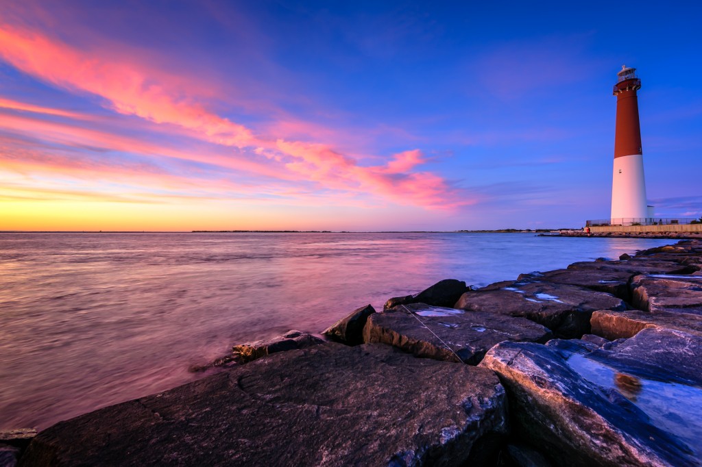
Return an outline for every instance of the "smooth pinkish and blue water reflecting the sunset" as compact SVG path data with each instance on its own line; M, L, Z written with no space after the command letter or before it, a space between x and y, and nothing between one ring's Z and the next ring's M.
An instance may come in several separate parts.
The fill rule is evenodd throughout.
M183 384L444 278L486 285L673 241L534 234L0 234L0 428Z

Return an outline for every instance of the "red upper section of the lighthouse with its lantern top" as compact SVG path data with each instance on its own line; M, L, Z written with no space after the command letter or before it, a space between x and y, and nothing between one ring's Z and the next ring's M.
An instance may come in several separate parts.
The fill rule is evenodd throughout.
M636 91L641 80L635 68L622 67L614 85L616 95L616 133L614 135L614 157L642 154L641 130L639 126L639 103Z

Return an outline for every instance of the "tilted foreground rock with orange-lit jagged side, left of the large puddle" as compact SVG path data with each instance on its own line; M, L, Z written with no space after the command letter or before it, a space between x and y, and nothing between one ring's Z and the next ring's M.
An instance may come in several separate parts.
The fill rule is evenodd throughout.
M699 465L684 442L654 426L632 402L571 368L578 354L562 354L551 346L503 342L480 363L507 389L519 437L559 466Z

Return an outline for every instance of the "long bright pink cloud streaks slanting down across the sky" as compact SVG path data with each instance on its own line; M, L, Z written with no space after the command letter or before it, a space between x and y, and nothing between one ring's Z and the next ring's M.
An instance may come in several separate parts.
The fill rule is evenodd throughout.
M17 116L0 114L0 125L18 133L39 133L58 141L78 139L107 144L121 151L185 158L251 171L278 180L291 181L302 176L305 179L303 182L316 182L324 189L347 191L355 196L382 196L395 203L426 208L453 207L472 202L463 199L464 195L451 189L442 177L430 172L413 172L424 162L418 150L396 154L383 165L364 166L355 158L333 149L330 144L258 135L251 128L223 118L202 104L202 96L197 91L206 88L206 83L172 76L145 65L138 57L135 60L126 60L119 55L113 57L110 50L86 52L44 34L7 25L0 26L0 56L22 72L54 86L99 96L105 100L105 107L119 114L183 128L186 130L184 134L189 137L231 147L232 152L201 156L36 119L28 129L18 125ZM16 102L5 102L9 102L8 106L12 109L22 107ZM51 114L51 109L47 111L39 106L25 105L19 110Z

